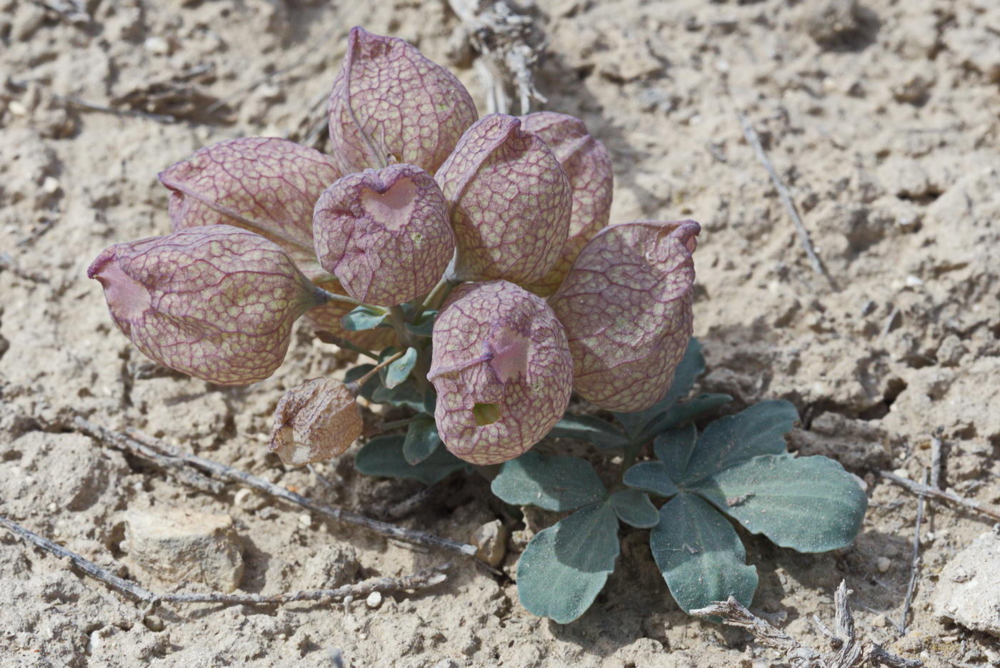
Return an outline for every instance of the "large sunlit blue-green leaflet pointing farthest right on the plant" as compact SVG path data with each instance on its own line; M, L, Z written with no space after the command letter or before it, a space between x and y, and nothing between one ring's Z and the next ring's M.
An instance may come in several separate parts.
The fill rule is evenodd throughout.
M825 552L850 545L868 497L826 457L765 454L738 462L689 487L752 533L782 547Z

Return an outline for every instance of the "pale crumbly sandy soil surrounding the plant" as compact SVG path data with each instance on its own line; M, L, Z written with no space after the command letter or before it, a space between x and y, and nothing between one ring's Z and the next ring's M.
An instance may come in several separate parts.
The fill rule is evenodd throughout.
M111 243L168 230L156 174L174 161L231 137L305 141L351 26L404 37L444 63L456 18L418 0L90 0L93 21L73 24L45 4L69 3L0 1L0 513L159 590L170 585L126 549L129 509L231 515L250 592L322 586L345 559L353 578L449 560L301 521L300 508L238 504L233 486L192 492L58 425L81 414L135 426L371 514L419 489L360 478L345 455L321 467L337 482L331 492L267 454L283 388L339 363L304 327L271 379L210 386L149 364L114 329L85 270ZM838 9L849 4L540 0L550 57L538 84L546 108L582 117L610 149L613 221L704 226L700 389L733 394L734 407L792 400L803 416L793 445L839 459L869 485L863 532L847 550L799 555L747 537L761 581L754 609L825 647L810 618L829 623L846 578L871 639L935 668L1000 665L996 638L934 616L939 572L990 525L939 503L925 513L913 619L900 637L917 499L877 475L922 477L940 429L944 483L1000 502L1000 6ZM482 110L473 71L459 75ZM736 111L788 184L829 281L804 255ZM313 141L323 148L323 133ZM465 540L498 510L481 480L455 479L403 522ZM166 606L150 618L2 533L3 666L329 666L331 648L352 667L780 665L747 634L682 613L645 531L624 535L606 590L566 626L532 617L512 582L467 562L438 589L374 610ZM508 572L517 557L508 554Z

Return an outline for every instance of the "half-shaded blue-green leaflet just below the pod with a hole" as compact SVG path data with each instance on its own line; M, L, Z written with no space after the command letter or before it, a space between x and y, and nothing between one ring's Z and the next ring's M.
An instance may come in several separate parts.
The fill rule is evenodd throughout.
M586 459L546 456L532 450L504 462L490 489L507 503L560 511L603 501L608 496L597 471Z

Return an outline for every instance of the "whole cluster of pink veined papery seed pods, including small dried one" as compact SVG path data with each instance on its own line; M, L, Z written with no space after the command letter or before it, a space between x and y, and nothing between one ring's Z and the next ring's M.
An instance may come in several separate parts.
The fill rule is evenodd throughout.
M618 411L665 394L692 331L699 227L608 227L610 159L581 121L478 118L450 72L355 28L329 124L330 156L238 139L160 174L173 234L112 246L88 271L145 354L246 384L277 369L301 316L377 350L397 343L393 330L348 332L354 306L419 313L445 286L414 372L437 391L442 440L467 461L530 448L574 389ZM360 432L351 393L310 380L279 404L272 448L307 463Z

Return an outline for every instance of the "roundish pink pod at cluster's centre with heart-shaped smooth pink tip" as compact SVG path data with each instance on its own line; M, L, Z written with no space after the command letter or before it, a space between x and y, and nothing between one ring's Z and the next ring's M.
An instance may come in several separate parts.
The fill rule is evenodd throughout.
M413 165L337 181L316 203L313 231L320 264L366 304L391 307L430 292L455 251L441 189Z

